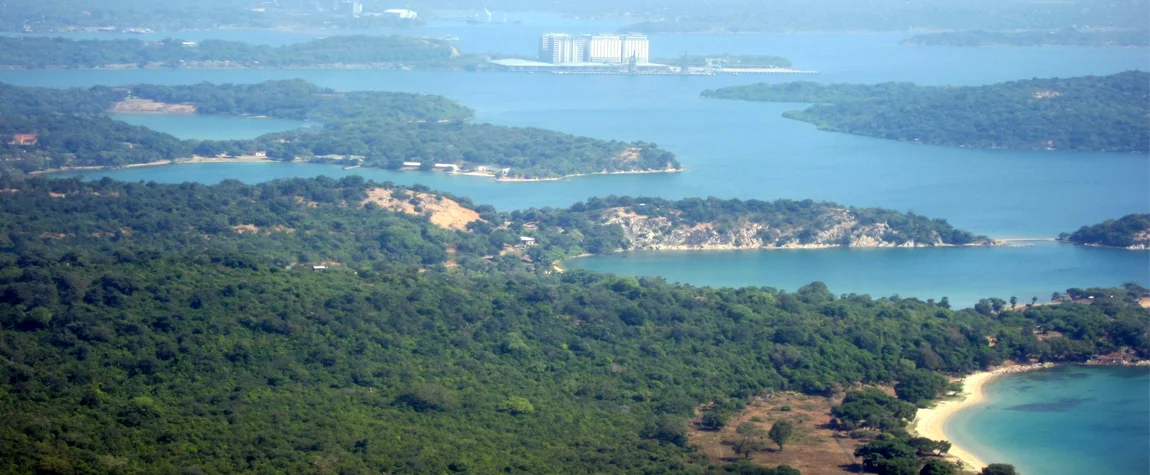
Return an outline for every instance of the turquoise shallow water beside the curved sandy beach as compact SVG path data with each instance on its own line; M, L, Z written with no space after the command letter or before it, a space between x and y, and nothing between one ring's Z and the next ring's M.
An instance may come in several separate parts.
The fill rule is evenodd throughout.
M1150 368L1066 366L988 382L946 437L1025 475L1150 473Z

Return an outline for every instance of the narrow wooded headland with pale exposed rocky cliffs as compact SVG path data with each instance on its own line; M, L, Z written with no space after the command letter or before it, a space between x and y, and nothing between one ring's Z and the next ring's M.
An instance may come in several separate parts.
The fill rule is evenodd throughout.
M1000 244L945 220L812 200L593 198L568 209L513 213L506 224L532 239L524 254L542 262L624 251Z

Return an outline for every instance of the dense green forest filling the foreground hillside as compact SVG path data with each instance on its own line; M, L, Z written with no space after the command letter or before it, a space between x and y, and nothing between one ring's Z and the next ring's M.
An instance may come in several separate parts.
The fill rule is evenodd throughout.
M1030 311L532 274L476 258L500 230L348 206L379 186L360 177L2 182L6 473L793 475L708 468L685 421L890 382L927 348L960 373L1049 344ZM1125 299L1058 311L1142 338L1150 319Z

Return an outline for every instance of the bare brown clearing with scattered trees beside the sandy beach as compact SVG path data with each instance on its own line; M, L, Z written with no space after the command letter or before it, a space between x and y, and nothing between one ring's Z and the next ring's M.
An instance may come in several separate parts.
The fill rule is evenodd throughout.
M751 422L760 432L754 437L767 447L752 454L752 462L768 467L789 465L803 475L851 474L856 473L851 472L854 447L861 444L846 434L830 429L830 407L836 403L830 398L792 392L775 393L757 398L743 412L733 416L721 430L692 429L688 437L692 444L702 446L703 453L713 462L733 462L743 457L735 453L731 444L746 437L738 434L737 428L744 422ZM783 451L779 451L779 445L767 437L767 431L772 424L782 420L795 424L795 435Z

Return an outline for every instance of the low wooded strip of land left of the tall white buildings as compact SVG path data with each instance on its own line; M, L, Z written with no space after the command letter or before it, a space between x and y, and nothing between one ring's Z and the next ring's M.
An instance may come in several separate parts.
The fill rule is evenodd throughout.
M194 46L178 39L72 40L0 37L3 68L300 68L352 66L465 67L481 62L461 56L447 41L409 36L345 36L283 46L208 39Z

